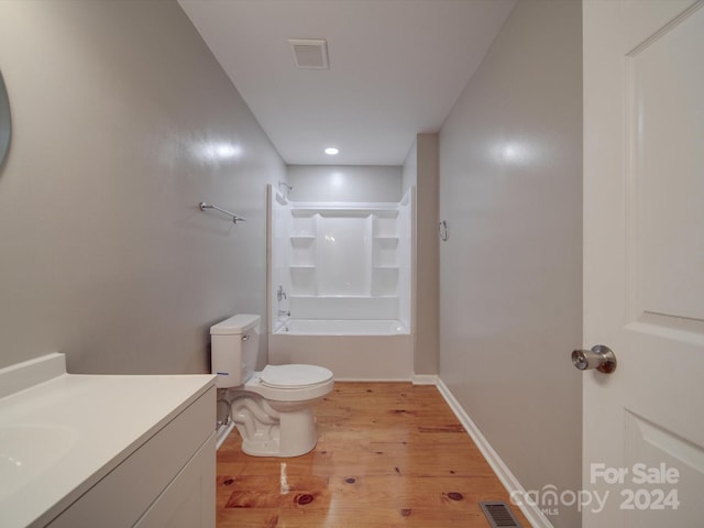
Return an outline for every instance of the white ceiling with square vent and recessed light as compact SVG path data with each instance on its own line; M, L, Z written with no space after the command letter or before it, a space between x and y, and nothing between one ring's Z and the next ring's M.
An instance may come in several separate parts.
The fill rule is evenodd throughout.
M437 132L515 0L178 0L289 165L403 165ZM326 38L297 69L288 38ZM337 146L331 157L326 146Z

